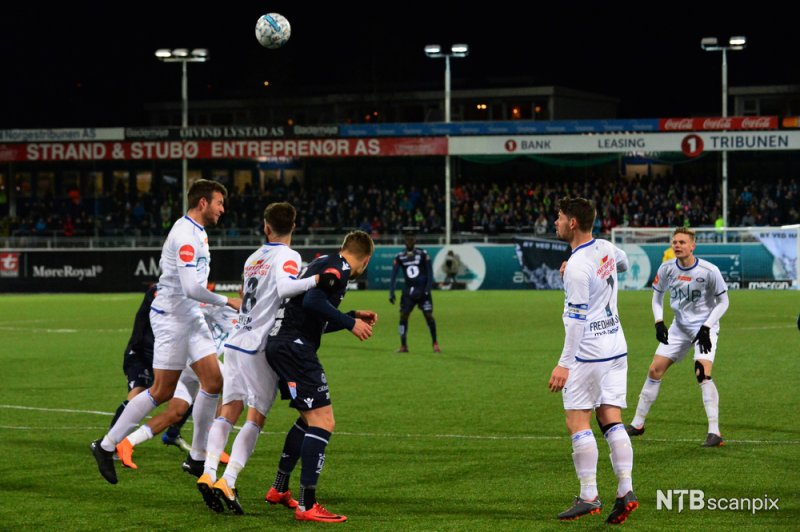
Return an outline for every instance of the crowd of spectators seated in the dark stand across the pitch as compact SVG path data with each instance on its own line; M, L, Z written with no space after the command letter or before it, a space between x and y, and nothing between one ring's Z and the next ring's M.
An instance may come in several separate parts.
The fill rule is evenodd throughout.
M82 197L76 190L56 196L19 198L18 216L5 217L0 234L12 236L165 235L180 216L175 187L158 194L133 193L119 186L113 193ZM797 179L731 181L731 226L800 223ZM721 215L716 180L676 176L632 179L578 178L457 180L452 189L453 231L484 234L553 234L559 197L580 195L598 207L595 233L615 226L713 226ZM264 207L289 201L297 207L297 233L362 229L374 235L400 234L415 227L444 232L443 187L430 182L360 183L337 186L309 179L301 184L271 182L264 190L231 190L221 231L229 236L260 234Z

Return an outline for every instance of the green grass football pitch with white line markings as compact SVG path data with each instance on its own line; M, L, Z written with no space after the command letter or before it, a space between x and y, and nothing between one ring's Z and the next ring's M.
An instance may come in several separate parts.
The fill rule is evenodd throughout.
M394 350L397 306L385 292L353 292L342 308L378 312L375 336L323 339L336 414L319 498L348 515L349 530L565 530L603 525L616 479L600 449L600 516L560 523L578 493L561 397L547 390L563 342L559 292L437 292L441 355L421 314L410 353ZM122 351L139 294L0 297L0 529L277 530L297 523L269 507L283 434L296 417L276 403L237 487L244 516L213 514L184 455L160 439L142 444L139 469L97 472L89 442L124 398ZM705 412L691 361L673 367L633 439L639 530L796 529L800 519L800 332L797 292L733 292L722 320L714 380L728 441L703 449ZM620 295L629 347L633 416L656 347L650 292ZM184 435L191 437L191 426ZM232 441L232 438L231 440ZM229 441L229 445L230 445ZM292 477L297 491L299 469ZM779 510L672 511L657 490L704 490L712 498L778 498ZM688 501L687 501L688 506ZM333 525L329 525L333 527Z

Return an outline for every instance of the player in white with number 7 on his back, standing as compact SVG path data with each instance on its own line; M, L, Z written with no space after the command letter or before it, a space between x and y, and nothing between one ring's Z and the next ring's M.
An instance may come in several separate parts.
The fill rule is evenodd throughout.
M617 272L627 270L628 259L611 242L592 238L596 213L589 200L563 198L558 209L556 234L570 244L572 255L564 269L566 338L548 386L562 391L572 461L581 484L580 495L558 518L578 519L603 508L597 493L597 442L590 427L594 411L618 480L606 522L618 524L639 506L631 480L633 449L621 414L626 407L628 348L617 311Z

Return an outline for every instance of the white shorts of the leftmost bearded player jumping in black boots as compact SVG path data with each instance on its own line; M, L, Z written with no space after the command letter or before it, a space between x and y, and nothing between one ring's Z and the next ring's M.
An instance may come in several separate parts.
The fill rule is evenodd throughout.
M217 354L211 329L199 311L178 319L151 310L150 325L155 336L153 368L182 370L201 358Z

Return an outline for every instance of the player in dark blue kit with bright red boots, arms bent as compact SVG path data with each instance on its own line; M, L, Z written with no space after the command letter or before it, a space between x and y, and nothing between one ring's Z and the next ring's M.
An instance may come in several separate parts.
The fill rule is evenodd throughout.
M281 398L296 408L300 417L286 435L272 488L289 493L289 476L301 459L299 506L295 519L338 523L347 517L327 511L317 503L316 488L325 448L334 428L333 407L325 370L317 357L323 333L347 329L359 340L372 336L378 319L370 310L339 311L347 281L361 275L375 250L363 231L349 233L337 255L314 260L301 277L319 274L315 288L286 300L267 340L267 361L280 377ZM270 490L273 493L273 490ZM267 497L275 504L279 500Z

